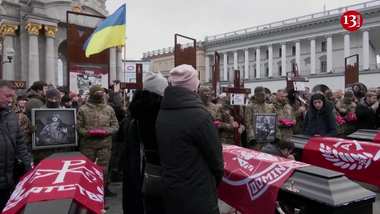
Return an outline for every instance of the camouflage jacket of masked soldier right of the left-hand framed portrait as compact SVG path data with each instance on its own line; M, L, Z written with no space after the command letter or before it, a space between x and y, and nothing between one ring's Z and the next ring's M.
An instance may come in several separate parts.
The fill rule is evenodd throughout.
M79 134L81 137L80 146L82 148L101 148L112 146L111 136L119 130L119 122L117 121L115 111L111 106L107 105L104 100L101 104L95 104L86 101L82 105L76 116L79 125ZM83 133L90 130L100 129L108 133L104 137L84 137Z

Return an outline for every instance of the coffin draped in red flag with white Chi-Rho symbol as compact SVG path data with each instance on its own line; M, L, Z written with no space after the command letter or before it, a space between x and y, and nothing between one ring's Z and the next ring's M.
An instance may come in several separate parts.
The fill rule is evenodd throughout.
M85 160L86 163L80 164L81 162L78 162L78 160ZM58 172L57 174L51 175L51 176L55 176L53 178L53 180L55 180L54 181L55 184L54 182L49 183L49 181L51 180L40 181L42 177L35 176L36 170L42 169L38 173L43 174L44 173L43 170L44 168L46 168L47 165L51 165L49 166L49 168L55 169L54 168L55 163L62 162L62 161L67 161L68 163L68 165L66 165L67 167L65 167L65 164L63 164L63 167L62 167L62 171L65 171L65 169L67 169L65 177L63 178L63 182L59 182L59 181L56 182L57 181L56 177L58 176L60 172ZM97 172L94 172L95 169L97 170ZM76 172L73 173L73 171L76 171ZM80 171L83 171L84 173L82 174L80 173ZM84 175L86 175L92 181L90 185L86 184L86 177L84 177ZM80 152L55 153L47 157L45 160L41 161L30 172L25 174L21 178L21 181L26 178L28 179L28 181L25 182L25 184L28 184L30 180L36 177L37 179L33 180L32 182L32 188L35 188L36 190L36 188L41 188L45 186L45 188L43 188L42 191L40 192L41 194L43 194L44 190L48 188L47 186L49 187L57 186L56 188L52 188L52 193L54 193L55 190L59 191L59 188L60 188L60 190L62 191L55 193L55 195L62 195L62 198L38 201L38 199L35 199L36 195L34 194L40 194L40 193L29 193L29 195L26 196L25 198L27 201L18 201L18 203L16 203L15 206L9 208L8 210L3 211L2 212L3 214L7 214L7 213L9 214L13 214L13 213L101 214L103 213L102 210L104 206L104 192L102 194L97 189L97 187L99 187L100 185L101 185L100 188L104 189L103 173L99 166L97 166L95 163L91 162L89 159L84 157ZM49 176L46 176L46 177L49 177ZM24 188L31 189L31 188L28 188L28 186L26 187L24 186ZM19 195L22 195L22 194L19 194ZM87 197L90 197L90 198L87 198ZM16 190L13 192L11 199L9 199L8 201L8 204L7 204L8 206L9 206L9 203L15 203L14 198L17 199L17 187L16 187ZM32 198L34 198L34 201L29 202ZM85 199L85 200L81 200L81 199Z

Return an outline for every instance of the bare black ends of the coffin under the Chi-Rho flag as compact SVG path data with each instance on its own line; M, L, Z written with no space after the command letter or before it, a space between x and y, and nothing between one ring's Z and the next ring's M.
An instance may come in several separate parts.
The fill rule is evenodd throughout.
M71 158L82 157L80 152L55 153L46 159L54 158ZM27 203L20 214L99 214L95 213L80 203L77 203L73 198L38 201Z

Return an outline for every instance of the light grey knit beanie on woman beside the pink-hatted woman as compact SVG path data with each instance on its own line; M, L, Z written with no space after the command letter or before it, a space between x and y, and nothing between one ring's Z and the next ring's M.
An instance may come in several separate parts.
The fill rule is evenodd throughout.
M145 80L142 83L142 89L158 95L163 95L165 88L168 87L168 81L150 71L146 72Z

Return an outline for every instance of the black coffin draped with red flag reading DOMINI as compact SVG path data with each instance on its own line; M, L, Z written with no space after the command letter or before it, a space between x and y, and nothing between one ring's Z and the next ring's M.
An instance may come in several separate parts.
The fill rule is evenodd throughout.
M301 139L299 138L298 146L302 144ZM260 214L372 214L373 212L372 203L375 202L375 193L347 179L343 173L284 158L274 158L272 155L233 145L223 145L223 158L225 173L218 188L218 196L220 200L242 214L256 212ZM276 170L280 168L278 167L280 165L288 166L282 171L282 174L285 174L283 177L281 170ZM263 169L260 166L269 167ZM283 180L281 182L262 180L263 176L268 179L269 174L273 175L273 179L276 178L277 181Z

